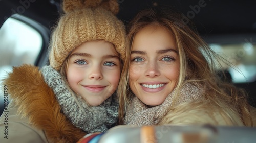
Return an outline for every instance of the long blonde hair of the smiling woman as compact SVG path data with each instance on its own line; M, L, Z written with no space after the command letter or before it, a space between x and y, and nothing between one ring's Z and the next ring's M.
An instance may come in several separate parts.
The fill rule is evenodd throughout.
M181 14L169 7L162 7L143 10L129 23L130 25L127 27L129 46L127 46L126 59L118 87L120 124L123 123L126 108L134 97L128 82L133 38L144 27L156 25L167 28L173 34L179 52L180 75L173 105L177 104L182 85L191 81L199 82L205 88L204 100L216 105L227 116L230 116L228 113L230 111L235 113L244 125L252 126L247 93L243 89L238 89L234 85L222 81L216 74L217 69L221 67L220 62L228 63L228 61L212 51L199 34L181 19Z

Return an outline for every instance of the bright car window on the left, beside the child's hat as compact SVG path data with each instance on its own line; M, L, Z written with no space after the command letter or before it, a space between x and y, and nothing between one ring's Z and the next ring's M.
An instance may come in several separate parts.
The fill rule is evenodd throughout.
M0 28L0 79L12 66L34 65L42 47L41 35L26 23L8 18Z

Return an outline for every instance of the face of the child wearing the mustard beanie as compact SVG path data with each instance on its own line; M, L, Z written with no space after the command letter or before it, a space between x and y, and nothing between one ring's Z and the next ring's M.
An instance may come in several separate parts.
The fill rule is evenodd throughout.
M121 67L113 44L98 40L78 46L68 62L70 87L91 106L98 106L116 90Z

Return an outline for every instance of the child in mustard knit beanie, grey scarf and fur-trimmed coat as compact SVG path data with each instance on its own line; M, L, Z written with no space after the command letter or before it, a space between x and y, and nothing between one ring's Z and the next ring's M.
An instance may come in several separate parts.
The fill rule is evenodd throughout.
M116 124L126 47L125 27L112 14L118 3L67 0L63 10L51 37L50 65L14 67L4 79L12 102L8 125L1 117L1 129L8 126L1 142L76 142Z

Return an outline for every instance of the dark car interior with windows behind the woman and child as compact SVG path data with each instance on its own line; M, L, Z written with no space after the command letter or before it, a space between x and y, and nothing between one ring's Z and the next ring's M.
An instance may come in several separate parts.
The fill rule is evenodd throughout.
M120 7L117 17L125 25L146 8L169 5L181 11L183 20L192 21L212 49L234 65L226 67L226 76L248 92L250 105L256 107L256 1L117 1ZM50 35L62 13L61 3L61 0L0 0L0 80L13 66L48 64ZM0 114L8 104L7 90L1 85Z

